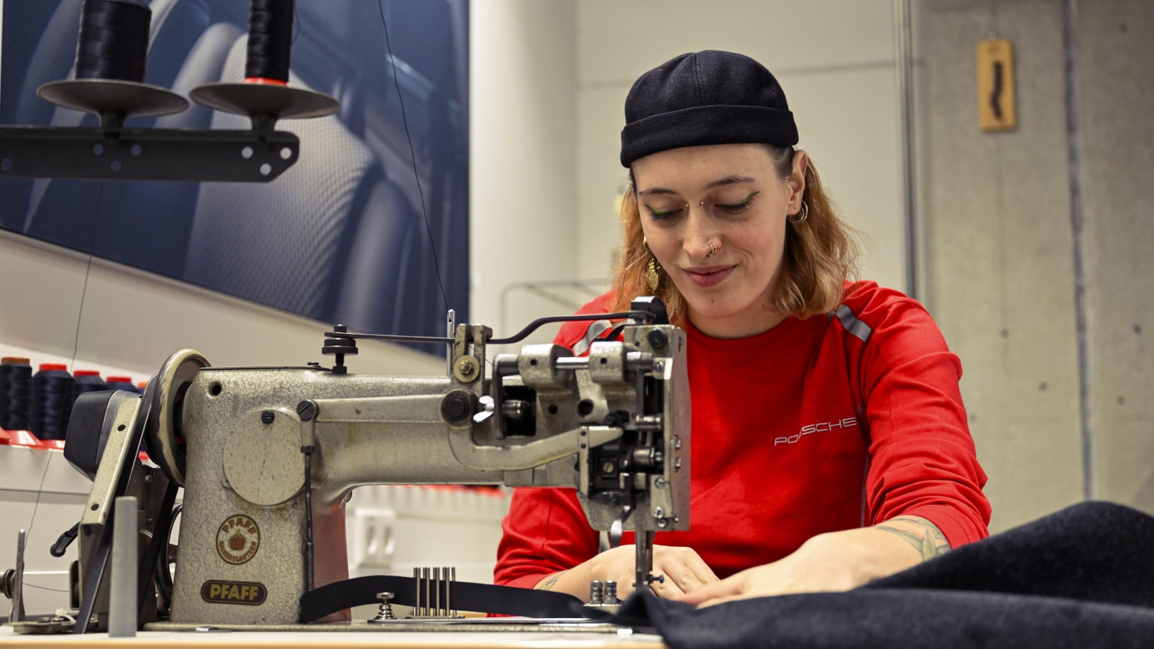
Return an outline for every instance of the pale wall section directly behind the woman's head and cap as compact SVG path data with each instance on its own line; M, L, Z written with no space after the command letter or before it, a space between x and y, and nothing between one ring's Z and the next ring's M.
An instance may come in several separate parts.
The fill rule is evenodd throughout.
M617 155L634 81L677 54L729 50L785 89L801 146L872 243L863 276L905 289L892 21L891 0L578 1L578 275L608 277L620 245Z

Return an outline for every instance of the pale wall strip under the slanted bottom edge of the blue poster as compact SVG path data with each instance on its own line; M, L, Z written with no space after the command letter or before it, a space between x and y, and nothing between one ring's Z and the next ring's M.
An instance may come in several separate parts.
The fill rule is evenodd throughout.
M95 258L84 293L87 267L88 255L0 232L0 343L37 352L33 364L70 359L75 345L75 367L111 366L134 376L155 374L181 348L213 365L330 361L321 345L331 323ZM360 346L350 363L361 372L444 371L443 360L407 348Z

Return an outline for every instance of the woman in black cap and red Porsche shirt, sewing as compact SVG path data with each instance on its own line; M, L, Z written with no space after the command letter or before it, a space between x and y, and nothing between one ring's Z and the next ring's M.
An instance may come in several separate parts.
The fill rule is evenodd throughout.
M847 590L987 536L958 358L916 301L847 281L852 233L773 75L684 54L634 84L625 120L621 261L582 312L655 293L688 334L691 529L657 534L654 592ZM574 322L557 343L601 331ZM632 589L634 549L598 553L572 491L517 490L503 529L497 583Z

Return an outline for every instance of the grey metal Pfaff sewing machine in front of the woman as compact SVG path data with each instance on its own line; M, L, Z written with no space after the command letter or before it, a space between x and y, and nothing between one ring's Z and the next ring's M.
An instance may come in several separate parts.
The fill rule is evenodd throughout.
M658 579L654 532L690 523L685 337L664 323L655 298L613 315L629 318L620 342L593 342L585 357L524 345L488 372L487 345L577 318L541 319L507 340L473 324L444 338L337 326L322 350L331 367L212 367L181 350L143 397L85 395L66 445L93 479L80 523L76 631L106 624L108 514L123 494L141 498L140 527L150 532L140 552L144 621L167 609L175 624L300 622L304 594L349 577L344 502L374 484L576 487L593 529L614 542L636 531L635 583L647 585ZM345 359L364 338L445 343L447 374L357 374ZM140 439L158 468L136 458ZM183 512L167 583L177 486ZM345 609L322 621L349 617Z

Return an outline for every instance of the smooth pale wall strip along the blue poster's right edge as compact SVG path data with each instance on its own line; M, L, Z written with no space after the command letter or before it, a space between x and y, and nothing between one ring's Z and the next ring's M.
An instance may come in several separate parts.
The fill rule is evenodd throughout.
M577 273L575 42L569 0L471 6L470 309L497 336L556 313L518 294L502 314L503 288Z

